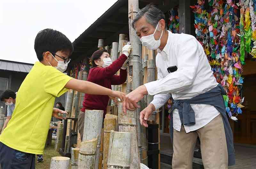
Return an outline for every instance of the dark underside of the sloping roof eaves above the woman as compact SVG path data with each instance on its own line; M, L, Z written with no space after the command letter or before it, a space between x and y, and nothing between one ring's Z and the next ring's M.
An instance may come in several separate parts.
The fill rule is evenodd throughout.
M168 11L179 4L179 0L165 1L164 3L160 0L139 0L139 8L153 3L162 11ZM118 0L76 38L73 42L74 52L70 56L71 62L68 66L73 66L85 57L91 57L92 53L98 50L99 39L104 39L105 46L111 46L112 42L119 42L119 34L129 35L127 0Z

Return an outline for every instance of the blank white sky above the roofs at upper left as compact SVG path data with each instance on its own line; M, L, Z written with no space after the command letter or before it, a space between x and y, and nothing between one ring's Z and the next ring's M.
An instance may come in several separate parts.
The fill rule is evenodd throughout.
M71 42L117 0L0 0L0 59L35 63L36 34L56 29Z

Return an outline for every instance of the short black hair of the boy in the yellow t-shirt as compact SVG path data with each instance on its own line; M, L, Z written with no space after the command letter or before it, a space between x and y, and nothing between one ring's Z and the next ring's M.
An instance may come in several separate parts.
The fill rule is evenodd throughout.
M47 51L52 53L69 51L71 55L74 50L72 42L64 34L50 28L38 32L34 48L39 61L43 60L43 54Z

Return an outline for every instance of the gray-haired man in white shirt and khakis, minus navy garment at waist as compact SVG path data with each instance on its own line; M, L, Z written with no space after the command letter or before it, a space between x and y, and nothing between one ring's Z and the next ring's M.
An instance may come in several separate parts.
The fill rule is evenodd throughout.
M218 83L201 44L192 35L167 31L164 13L154 5L141 9L132 26L143 46L150 50L157 49L157 81L133 90L123 103L124 112L126 109L135 110L139 107L137 102L144 95L155 95L148 107L140 112L141 125L148 127L148 117L171 96L174 101L191 99L217 87ZM192 168L194 148L199 136L204 168L227 169L228 150L220 112L210 104L190 106L195 116L193 125L185 125L178 109L174 109L172 114L172 168Z

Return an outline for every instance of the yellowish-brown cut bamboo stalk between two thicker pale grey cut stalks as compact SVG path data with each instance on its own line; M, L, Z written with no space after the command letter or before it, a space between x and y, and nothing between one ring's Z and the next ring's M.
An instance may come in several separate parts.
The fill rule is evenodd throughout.
M116 128L116 119L115 118L109 118L109 119L105 118L105 120L104 120L103 169L107 169L110 131L115 130L115 128Z

